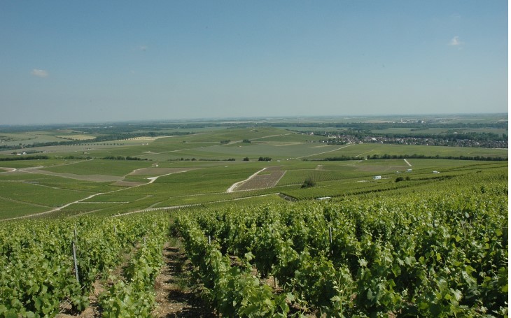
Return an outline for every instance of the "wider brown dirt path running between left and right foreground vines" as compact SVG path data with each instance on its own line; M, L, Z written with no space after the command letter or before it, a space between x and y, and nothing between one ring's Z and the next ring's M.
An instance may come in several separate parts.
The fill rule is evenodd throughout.
M156 303L153 317L216 317L188 284L190 265L179 243L165 243L160 275L155 280Z

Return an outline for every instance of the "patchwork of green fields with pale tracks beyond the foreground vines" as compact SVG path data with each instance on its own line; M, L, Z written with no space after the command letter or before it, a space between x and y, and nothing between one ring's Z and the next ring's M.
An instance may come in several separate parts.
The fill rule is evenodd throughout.
M507 167L507 161L414 158L507 158L507 149L381 143L328 145L322 142L322 136L278 127L183 129L168 129L170 136L105 141L91 139L99 136L97 133L73 129L0 133L11 141L43 137L48 141L77 141L30 147L30 153L18 156L12 150L2 150L0 218L55 209L49 215L109 215L234 202L269 194L293 198L342 196L435 182L433 177L438 174L433 175L433 171L447 178ZM34 154L45 157L30 160ZM384 154L412 158L374 159L374 155ZM325 161L342 156L355 160ZM20 160L25 157L29 160ZM407 172L409 169L412 172ZM381 179L374 180L375 175L381 175ZM395 182L400 175L409 181ZM302 188L305 180L311 180L314 187Z

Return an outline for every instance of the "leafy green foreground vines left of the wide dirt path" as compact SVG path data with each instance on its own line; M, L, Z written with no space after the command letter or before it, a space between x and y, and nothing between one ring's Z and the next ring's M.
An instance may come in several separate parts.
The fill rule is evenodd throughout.
M99 297L103 317L148 317L168 227L164 215L3 224L0 317L80 312L101 278L115 282ZM122 275L109 277L126 253Z

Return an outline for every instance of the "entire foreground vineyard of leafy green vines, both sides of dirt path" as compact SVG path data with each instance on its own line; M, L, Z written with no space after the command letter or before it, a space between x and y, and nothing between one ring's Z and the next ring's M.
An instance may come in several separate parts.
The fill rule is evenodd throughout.
M221 317L507 317L507 174L419 185L5 222L0 317L78 315L98 282L94 317L151 317L171 239Z

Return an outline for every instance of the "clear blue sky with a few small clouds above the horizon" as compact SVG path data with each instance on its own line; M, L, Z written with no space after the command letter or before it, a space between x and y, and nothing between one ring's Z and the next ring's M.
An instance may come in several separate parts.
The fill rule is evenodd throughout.
M0 1L0 124L507 113L507 0Z

